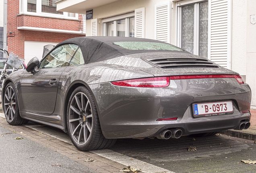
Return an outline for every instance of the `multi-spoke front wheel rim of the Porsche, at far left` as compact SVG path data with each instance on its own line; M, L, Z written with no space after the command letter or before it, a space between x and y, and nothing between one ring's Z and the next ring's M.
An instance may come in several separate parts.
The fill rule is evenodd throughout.
M4 110L8 121L12 121L15 115L16 98L11 86L8 86L4 93Z

